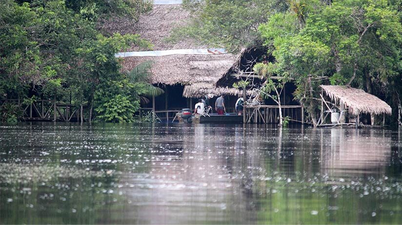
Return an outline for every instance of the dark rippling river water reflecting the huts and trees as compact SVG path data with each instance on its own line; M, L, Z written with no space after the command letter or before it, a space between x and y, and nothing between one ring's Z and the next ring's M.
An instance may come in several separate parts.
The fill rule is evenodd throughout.
M0 126L1 224L402 224L402 131Z

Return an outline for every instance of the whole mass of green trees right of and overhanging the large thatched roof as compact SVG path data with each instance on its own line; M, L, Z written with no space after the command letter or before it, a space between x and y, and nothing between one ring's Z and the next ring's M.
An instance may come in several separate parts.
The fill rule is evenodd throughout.
M273 74L294 80L294 98L305 105L313 123L319 111L318 87L332 84L379 96L394 109L388 122L397 124L402 95L400 0L184 0L184 5L194 18L172 40L195 38L232 52L265 46L275 60L255 71L264 71L268 80Z

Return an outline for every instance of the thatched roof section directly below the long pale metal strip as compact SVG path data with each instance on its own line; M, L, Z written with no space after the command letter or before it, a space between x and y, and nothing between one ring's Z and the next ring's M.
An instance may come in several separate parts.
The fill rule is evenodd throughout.
M232 54L166 55L123 58L123 70L130 70L144 61L153 61L150 82L153 84L190 85L215 84L229 69L236 56Z

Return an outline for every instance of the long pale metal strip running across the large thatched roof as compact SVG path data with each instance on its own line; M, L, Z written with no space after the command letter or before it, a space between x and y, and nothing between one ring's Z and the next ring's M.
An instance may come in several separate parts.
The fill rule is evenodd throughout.
M141 57L141 56L164 56L175 54L225 54L225 49L175 49L175 50L163 50L163 51L144 51L144 52L119 52L115 54L116 57Z

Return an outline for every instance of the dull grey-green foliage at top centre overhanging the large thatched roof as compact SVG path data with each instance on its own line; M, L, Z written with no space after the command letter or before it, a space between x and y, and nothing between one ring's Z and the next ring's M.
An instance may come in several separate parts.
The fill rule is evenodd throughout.
M193 18L172 32L171 41L192 38L230 52L260 43L258 25L288 7L283 0L183 0Z

